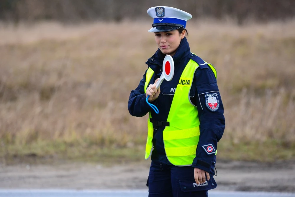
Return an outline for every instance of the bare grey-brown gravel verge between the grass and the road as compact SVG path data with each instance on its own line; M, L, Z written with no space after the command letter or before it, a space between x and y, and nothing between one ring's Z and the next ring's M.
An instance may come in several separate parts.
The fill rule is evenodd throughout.
M147 189L149 161L121 165L1 165L2 189ZM217 162L215 191L295 192L294 162Z

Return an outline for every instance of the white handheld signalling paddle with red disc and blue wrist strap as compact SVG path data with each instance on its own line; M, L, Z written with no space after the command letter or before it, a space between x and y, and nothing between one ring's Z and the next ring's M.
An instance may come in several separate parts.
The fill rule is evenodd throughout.
M167 55L167 56L165 56L164 61L163 61L163 72L162 72L159 80L155 84L156 89L158 89L160 87L160 85L162 84L164 79L166 81L171 81L171 79L173 78L173 75L174 75L174 61L173 61L172 56ZM146 102L150 105L151 108L153 108L155 113L159 113L158 108L155 105L148 102L149 97L150 96L148 95L146 98Z

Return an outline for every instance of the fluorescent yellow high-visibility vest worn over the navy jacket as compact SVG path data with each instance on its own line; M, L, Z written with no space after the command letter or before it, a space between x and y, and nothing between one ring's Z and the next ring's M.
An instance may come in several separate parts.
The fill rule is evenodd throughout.
M207 62L206 62L207 63ZM212 69L217 77L214 66L207 65ZM166 126L163 131L164 148L167 159L176 166L190 166L196 156L196 148L200 136L200 121L197 108L191 103L189 92L194 78L194 73L199 65L190 60L184 68L179 83L176 87L171 108L168 114ZM145 91L154 71L149 68L146 73ZM194 88L194 87L193 87ZM148 139L145 147L145 159L151 156L153 150L153 123L149 112L148 118Z

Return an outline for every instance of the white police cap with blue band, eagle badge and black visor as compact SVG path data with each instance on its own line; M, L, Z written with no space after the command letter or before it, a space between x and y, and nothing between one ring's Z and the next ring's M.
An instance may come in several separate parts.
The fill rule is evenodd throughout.
M186 27L186 21L191 19L191 14L180 9L168 6L156 6L148 9L148 15L154 18L149 32L165 32Z

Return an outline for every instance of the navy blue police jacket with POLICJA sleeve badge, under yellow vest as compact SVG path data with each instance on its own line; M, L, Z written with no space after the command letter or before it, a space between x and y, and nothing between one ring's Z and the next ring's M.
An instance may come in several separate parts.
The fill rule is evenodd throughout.
M159 49L148 59L146 64L155 72L149 82L154 84L155 80L162 74L162 65L165 54ZM135 90L130 93L128 101L128 110L131 115L142 117L151 111L153 120L167 121L175 88L179 82L180 76L190 59L193 59L199 64L199 68L195 71L192 88L190 91L191 102L197 107L200 121L200 138L196 149L196 157L192 163L192 167L197 167L214 174L213 163L216 161L215 151L217 150L217 142L221 139L225 120L223 115L223 105L217 86L217 80L213 71L205 62L196 55L190 52L189 43L186 38L181 40L181 43L173 56L175 64L174 76L171 81L163 81L160 85L161 93L159 97L152 103L159 109L156 114L152 108L146 103L145 99L145 74L143 79ZM216 98L218 106L215 109L210 108L208 102L209 97ZM209 103L210 104L210 103ZM213 106L214 107L214 106ZM163 130L165 127L154 129L152 160L171 164L164 150Z

